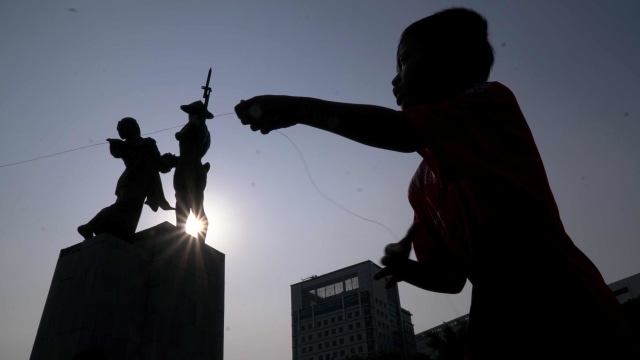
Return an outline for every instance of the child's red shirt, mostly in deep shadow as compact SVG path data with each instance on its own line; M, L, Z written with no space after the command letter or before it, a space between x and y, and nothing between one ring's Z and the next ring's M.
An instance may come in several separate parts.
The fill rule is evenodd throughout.
M482 83L405 114L428 144L409 201L430 235L415 239L414 251L425 261L430 249L446 248L473 284L470 356L499 358L493 330L515 348L530 348L544 333L543 348L572 356L592 338L600 337L603 352L622 346L620 305L566 234L513 93ZM524 325L509 333L514 316ZM553 330L559 319L564 327Z

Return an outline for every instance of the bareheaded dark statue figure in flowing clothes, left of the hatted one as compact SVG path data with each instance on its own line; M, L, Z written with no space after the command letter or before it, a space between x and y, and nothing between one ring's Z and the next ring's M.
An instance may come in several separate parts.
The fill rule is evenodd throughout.
M122 140L107 139L109 151L124 161L126 169L116 185L116 202L78 227L85 240L109 233L131 242L145 203L154 212L158 208L174 210L165 199L159 174L171 168L160 155L155 140L142 138L137 121L131 117L120 120L117 130Z

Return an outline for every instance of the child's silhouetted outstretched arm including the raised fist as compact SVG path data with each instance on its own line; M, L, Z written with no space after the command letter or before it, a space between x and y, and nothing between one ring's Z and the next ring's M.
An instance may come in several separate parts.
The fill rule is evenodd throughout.
M262 95L241 101L235 112L244 125L263 134L305 124L382 149L413 152L421 147L409 118L381 106Z

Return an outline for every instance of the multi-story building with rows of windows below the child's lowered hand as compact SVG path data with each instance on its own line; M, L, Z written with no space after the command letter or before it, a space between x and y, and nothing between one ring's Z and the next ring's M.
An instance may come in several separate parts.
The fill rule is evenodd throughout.
M385 289L371 261L291 285L294 360L333 360L382 351L414 353L411 313Z

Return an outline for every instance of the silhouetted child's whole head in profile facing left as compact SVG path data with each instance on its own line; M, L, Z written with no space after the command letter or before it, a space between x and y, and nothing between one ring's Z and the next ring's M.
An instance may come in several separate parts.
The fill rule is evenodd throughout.
M487 21L465 8L450 8L409 25L398 46L394 93L403 108L435 103L484 82L493 65Z

